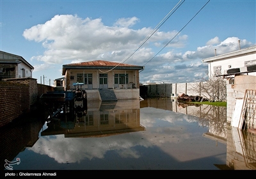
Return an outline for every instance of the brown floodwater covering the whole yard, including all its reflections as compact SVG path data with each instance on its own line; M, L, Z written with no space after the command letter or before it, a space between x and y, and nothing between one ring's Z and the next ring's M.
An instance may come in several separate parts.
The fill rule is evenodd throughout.
M88 109L74 118L29 116L1 128L1 169L251 169L255 148L250 152L254 159L244 160L243 151L239 158L237 143L245 142L236 139L243 136L248 146L248 141L255 143L255 136L228 127L226 111L148 98L88 101Z

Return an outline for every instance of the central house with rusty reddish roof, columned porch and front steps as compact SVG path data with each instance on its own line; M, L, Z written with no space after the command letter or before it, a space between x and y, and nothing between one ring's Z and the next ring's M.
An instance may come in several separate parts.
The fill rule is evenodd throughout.
M88 99L100 99L99 89L115 92L117 99L140 98L140 70L144 66L111 61L87 61L63 65L65 91L76 89L76 84L86 91Z

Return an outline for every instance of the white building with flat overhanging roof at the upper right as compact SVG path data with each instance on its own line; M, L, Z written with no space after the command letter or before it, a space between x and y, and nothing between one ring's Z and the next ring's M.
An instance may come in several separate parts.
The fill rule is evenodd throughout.
M256 75L256 46L203 59L208 63L209 77L227 74Z

